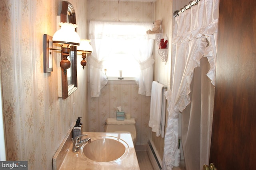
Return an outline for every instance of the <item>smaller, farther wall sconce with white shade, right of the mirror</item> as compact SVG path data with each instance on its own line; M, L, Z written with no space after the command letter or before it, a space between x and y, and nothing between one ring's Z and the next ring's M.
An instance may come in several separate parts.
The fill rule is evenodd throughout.
M76 51L78 51L80 54L82 54L83 60L81 61L81 65L84 66L87 65L86 55L88 53L92 53L92 46L90 45L91 40L89 39L81 39L80 45L77 47Z

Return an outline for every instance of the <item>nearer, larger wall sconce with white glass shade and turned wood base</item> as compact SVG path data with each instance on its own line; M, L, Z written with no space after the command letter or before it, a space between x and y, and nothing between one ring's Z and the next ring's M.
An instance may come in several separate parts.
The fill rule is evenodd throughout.
M44 39L44 52L46 52L46 54L44 54L44 57L47 57L47 50L45 49L47 47L48 47L48 51L60 50L62 55L62 60L60 61L60 67L64 70L64 73L66 74L67 69L70 68L71 66L70 61L67 59L70 53L70 46L80 45L80 37L78 33L76 33L75 31L77 27L76 24L60 22L59 25L60 25L60 29L54 33L52 37L52 43L60 44L61 49L54 49L50 47L49 44L51 41ZM49 54L51 53L49 52Z

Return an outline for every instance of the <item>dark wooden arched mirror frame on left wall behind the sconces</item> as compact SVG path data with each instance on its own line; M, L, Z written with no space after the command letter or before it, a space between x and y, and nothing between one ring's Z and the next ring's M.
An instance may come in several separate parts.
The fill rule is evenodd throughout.
M68 21L67 21L68 16ZM76 24L76 13L74 7L70 2L62 2L62 10L60 13L61 22L69 22ZM68 75L64 73L64 70L61 68L61 79L62 79L62 99L68 98L77 89L77 74L76 74L76 46L70 47L70 62L71 62L71 84L68 85Z

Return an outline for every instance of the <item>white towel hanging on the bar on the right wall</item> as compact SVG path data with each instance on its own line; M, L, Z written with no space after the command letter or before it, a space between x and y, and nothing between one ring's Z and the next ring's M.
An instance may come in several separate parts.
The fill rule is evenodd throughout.
M166 100L163 95L164 85L153 81L150 101L150 119L148 126L156 132L156 136L164 137Z

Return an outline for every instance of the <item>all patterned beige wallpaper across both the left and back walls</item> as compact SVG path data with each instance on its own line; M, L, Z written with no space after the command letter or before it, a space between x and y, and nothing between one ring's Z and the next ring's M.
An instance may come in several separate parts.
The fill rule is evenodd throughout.
M153 22L165 15L155 16L155 4L151 2L68 1L76 10L81 38L87 38L85 18L87 22ZM166 0L158 1L166 3ZM88 8L84 8L86 3ZM87 92L88 67L82 70L79 59L78 90L66 100L58 98L57 58L54 55L53 72L44 73L42 35L53 35L56 31L61 4L62 0L2 0L0 3L0 65L7 160L28 160L29 170L52 169L52 156L77 116L82 117L84 131L103 131L106 118L114 117L116 106L122 106L136 118L137 144L146 144L151 136L148 128L150 97L139 95L138 86L128 82L108 84L99 98L87 98L90 94ZM169 33L166 35L170 37ZM166 82L166 74L160 73L162 69L167 70L166 66L155 63L154 67L159 70L154 72L157 75L154 80Z

